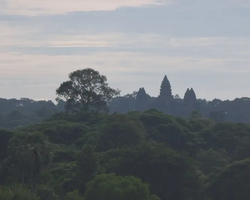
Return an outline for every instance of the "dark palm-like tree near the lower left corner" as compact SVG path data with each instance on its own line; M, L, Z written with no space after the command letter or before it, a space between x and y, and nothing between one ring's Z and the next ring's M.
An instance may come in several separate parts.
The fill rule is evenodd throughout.
M23 185L31 182L35 191L40 172L49 164L49 161L50 152L43 134L21 132L11 139L6 164L12 175L11 178L20 177Z

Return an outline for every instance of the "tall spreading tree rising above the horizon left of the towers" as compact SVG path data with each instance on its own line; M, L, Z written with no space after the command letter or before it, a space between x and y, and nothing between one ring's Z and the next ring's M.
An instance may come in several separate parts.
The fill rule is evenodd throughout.
M68 110L100 109L120 94L118 89L109 87L106 76L90 68L71 72L69 79L56 90L56 100L65 99Z

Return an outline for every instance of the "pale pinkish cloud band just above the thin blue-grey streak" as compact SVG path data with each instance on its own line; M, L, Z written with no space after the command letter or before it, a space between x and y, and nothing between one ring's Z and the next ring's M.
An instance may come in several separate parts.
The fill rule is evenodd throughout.
M0 25L0 42L1 48L10 47L18 49L18 47L48 50L48 48L60 49L67 48L86 48L91 50L130 50L130 51L152 51L178 49L197 50L197 48L250 48L250 37L186 37L186 36L169 36L157 33L88 33L74 31L71 34L55 33L43 34L40 29L15 27L8 25ZM191 49L190 49L191 48ZM35 50L35 49L32 49ZM245 50L245 49L244 49ZM26 52L27 53L27 52ZM48 51L48 54L50 52Z

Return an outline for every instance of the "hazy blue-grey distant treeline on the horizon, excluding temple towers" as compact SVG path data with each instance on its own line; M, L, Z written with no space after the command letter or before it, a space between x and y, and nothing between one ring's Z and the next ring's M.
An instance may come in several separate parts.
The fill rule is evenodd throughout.
M140 89L139 92L141 90L142 89ZM142 112L152 108L161 110L160 108L156 108L157 106L148 106L148 108L144 107L142 109L143 104L140 104L140 98L138 92L121 97L114 97L108 104L109 113L125 114L131 111ZM148 98L151 98L151 102L156 101L156 98L150 97L149 95ZM194 111L196 111L199 116L212 119L215 122L250 122L250 98L237 98L233 101L222 101L219 99L206 101L197 99L196 108L194 109L185 109L185 99L181 99L179 96L176 96L173 102L178 104L175 110L180 110L178 113L169 113L174 116L190 117ZM15 129L26 125L41 123L54 114L64 112L65 105L65 101L54 104L52 101L35 101L28 98L0 99L0 127Z

